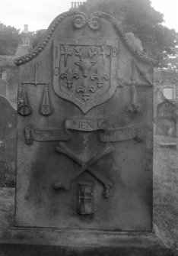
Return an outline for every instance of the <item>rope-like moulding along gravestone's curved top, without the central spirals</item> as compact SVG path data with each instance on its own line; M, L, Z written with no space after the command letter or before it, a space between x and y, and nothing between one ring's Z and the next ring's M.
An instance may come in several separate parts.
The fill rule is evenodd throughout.
M49 28L46 31L46 36L43 38L42 41L40 41L40 43L37 45L37 47L35 47L31 53L27 53L26 55L24 55L22 57L18 57L16 59L14 59L15 65L20 66L20 65L23 65L24 63L30 62L30 60L35 59L45 49L47 44L49 44L52 34L56 30L56 27L58 26L59 22L62 21L63 19L65 19L66 17L72 16L72 15L83 15L84 18L88 21L87 15L85 15L81 11L71 10L71 11L63 12L61 15L58 15L52 21L52 23L49 25ZM151 65L154 65L154 66L157 64L156 60L153 60L153 59L147 57L144 53L141 53L138 50L133 49L132 44L129 43L129 41L126 37L126 34L122 29L121 24L119 24L119 22L116 21L116 18L113 18L112 16L110 16L104 12L100 12L100 11L94 12L92 15L90 15L90 19L94 18L94 17L104 18L107 21L110 21L110 23L113 24L114 28L116 28L116 31L119 34L119 36L121 37L122 42L126 45L128 50L132 54L135 55L135 57L138 60L142 60L145 63L150 63Z

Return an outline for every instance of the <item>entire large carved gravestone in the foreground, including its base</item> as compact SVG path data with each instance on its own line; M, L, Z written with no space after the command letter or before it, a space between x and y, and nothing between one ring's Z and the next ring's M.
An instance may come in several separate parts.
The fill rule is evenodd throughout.
M170 254L152 232L154 60L110 15L72 10L15 63L13 255Z

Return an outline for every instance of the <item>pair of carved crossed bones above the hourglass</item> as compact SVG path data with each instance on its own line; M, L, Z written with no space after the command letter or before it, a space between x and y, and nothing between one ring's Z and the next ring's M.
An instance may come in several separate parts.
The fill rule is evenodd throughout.
M108 198L110 196L110 188L113 186L113 182L111 180L108 180L106 177L103 177L101 173L97 173L96 170L94 170L93 167L91 167L94 163L96 163L98 160L103 158L106 154L110 154L114 151L114 147L110 142L106 143L105 147L103 147L103 150L100 151L97 154L94 154L93 157L91 157L87 162L83 162L79 157L77 157L72 150L70 150L68 147L65 146L64 143L59 142L59 146L56 146L56 151L61 154L65 154L66 156L70 157L72 160L74 160L77 164L81 166L81 170L75 176L70 178L68 183L62 183L62 182L56 182L53 184L53 188L55 190L70 190L71 183L77 179L79 176L81 176L82 173L84 173L86 170L91 173L92 176L94 176L100 183L103 184L103 197Z

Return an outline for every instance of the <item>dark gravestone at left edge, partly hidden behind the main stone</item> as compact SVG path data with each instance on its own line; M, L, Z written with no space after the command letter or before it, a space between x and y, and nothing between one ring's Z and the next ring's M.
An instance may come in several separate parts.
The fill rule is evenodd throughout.
M17 115L11 104L0 96L0 181L1 186L14 185Z

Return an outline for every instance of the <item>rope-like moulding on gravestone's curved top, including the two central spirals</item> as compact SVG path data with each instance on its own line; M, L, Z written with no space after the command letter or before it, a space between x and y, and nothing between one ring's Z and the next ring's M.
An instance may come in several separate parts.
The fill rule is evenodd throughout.
M30 60L35 59L46 48L47 44L49 44L49 41L51 41L52 39L52 34L54 33L54 31L56 31L56 28L59 25L59 23L69 16L74 16L74 19L72 22L73 22L74 28L76 29L81 29L85 25L88 25L89 28L93 30L97 30L97 29L100 29L100 26L102 24L102 19L109 21L111 24L113 24L123 44L126 45L128 50L132 54L134 54L136 58L146 63L151 63L152 65L157 64L156 60L152 60L151 58L147 57L145 53L141 53L138 50L134 50L134 48L132 47L132 44L130 44L130 42L126 37L125 32L122 30L121 25L119 24L118 21L116 21L115 18L103 12L95 12L89 18L87 18L87 16L83 12L77 11L77 10L66 11L61 15L57 16L49 25L49 28L46 31L46 36L43 37L43 40L40 41L40 44L38 44L37 47L35 47L31 53L28 53L22 57L18 57L14 59L14 63L17 66L20 66L20 65L23 65L24 63L30 62Z

